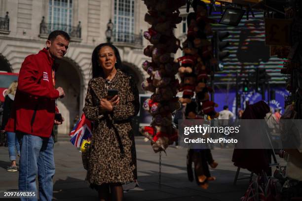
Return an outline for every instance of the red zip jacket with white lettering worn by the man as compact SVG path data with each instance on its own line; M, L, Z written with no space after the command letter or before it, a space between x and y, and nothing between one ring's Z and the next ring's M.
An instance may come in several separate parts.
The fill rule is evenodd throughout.
M53 62L45 48L25 58L19 72L14 110L6 131L20 131L41 137L51 135L55 100L59 98L52 81Z

